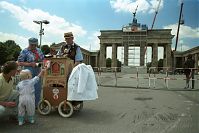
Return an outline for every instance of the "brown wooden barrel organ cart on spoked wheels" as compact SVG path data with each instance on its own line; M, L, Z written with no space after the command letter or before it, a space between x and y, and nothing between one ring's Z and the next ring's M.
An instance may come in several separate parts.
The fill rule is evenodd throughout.
M81 110L83 102L67 101L67 80L74 61L67 57L51 57L44 60L46 71L43 76L43 98L38 111L47 115L52 109L63 117L70 117L74 110Z

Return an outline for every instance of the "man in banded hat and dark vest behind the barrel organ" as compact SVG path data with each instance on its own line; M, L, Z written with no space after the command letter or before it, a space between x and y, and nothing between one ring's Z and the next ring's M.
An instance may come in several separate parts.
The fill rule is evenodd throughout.
M83 55L80 46L74 43L73 33L64 33L65 43L61 46L58 55L67 54L67 57L74 60L75 66L83 61Z

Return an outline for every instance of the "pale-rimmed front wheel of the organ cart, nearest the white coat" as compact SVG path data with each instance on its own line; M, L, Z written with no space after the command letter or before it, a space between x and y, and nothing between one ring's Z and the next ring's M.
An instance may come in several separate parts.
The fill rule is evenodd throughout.
M59 104L58 112L62 117L70 117L73 114L73 106L70 102L63 101Z

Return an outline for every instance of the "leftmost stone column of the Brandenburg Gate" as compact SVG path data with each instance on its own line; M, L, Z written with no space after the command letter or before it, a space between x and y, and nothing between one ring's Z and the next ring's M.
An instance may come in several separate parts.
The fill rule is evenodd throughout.
M100 67L106 67L106 46L105 44L100 44Z

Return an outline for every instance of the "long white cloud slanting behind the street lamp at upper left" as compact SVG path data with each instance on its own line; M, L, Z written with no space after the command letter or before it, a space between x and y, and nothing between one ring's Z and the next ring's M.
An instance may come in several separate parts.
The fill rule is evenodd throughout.
M66 31L72 31L77 37L84 36L87 33L82 26L40 9L22 8L6 1L0 2L0 9L10 12L17 19L19 26L35 34L38 34L40 25L33 23L33 20L50 21L50 24L43 25L43 27L45 29L44 40L46 39L51 42L63 41L63 33Z

